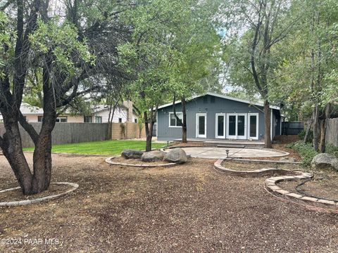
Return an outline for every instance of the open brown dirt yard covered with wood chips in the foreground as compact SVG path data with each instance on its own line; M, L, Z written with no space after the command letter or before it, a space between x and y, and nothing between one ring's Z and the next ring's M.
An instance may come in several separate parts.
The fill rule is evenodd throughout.
M281 202L265 192L264 178L225 176L214 160L141 169L104 157L53 158L52 181L80 187L1 207L0 252L337 252L336 214ZM0 188L13 186L0 156Z

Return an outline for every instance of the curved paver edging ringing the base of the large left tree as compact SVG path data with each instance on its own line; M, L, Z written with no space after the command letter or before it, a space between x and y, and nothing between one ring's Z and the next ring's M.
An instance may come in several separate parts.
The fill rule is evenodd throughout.
M30 204L34 204L34 203L38 203L38 202L42 202L42 201L46 201L46 200L56 199L57 197L62 197L64 195L67 195L68 193L73 192L73 190L76 190L79 187L79 185L77 183L69 183L69 182L54 182L52 184L63 184L63 185L73 186L73 188L71 188L70 190L66 190L64 193L59 193L59 194L56 194L56 195L49 195L49 196L46 196L46 197L38 197L38 198L32 199L32 200L18 200L18 201L0 202L0 207L14 207L14 206L21 206L21 205L30 205ZM0 190L0 193L5 193L7 191L16 190L16 189L20 189L20 187L14 187L14 188L8 188L8 189L5 189L5 190Z

